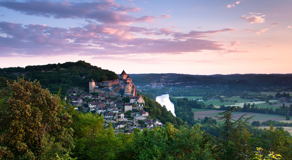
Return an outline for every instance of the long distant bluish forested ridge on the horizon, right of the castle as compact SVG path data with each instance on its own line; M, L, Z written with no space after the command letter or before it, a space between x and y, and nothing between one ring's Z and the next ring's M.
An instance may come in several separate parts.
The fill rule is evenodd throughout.
M130 74L137 86L162 84L164 86L292 86L292 74Z

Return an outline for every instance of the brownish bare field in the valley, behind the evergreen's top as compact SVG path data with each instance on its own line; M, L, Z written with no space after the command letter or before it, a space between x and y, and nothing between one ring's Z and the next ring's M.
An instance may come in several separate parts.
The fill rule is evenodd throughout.
M201 111L201 112L197 111L197 112L194 112L194 116L195 116L195 118L199 118L199 119L204 119L206 116L214 118L220 112L224 112L224 111L218 111L218 110L206 110L206 111ZM263 122L263 121L267 121L269 119L271 119L273 121L286 120L285 116L280 116L277 114L261 114L261 113L252 113L252 112L234 112L234 114L233 114L234 119L238 119L240 116L242 116L243 114L246 114L246 113L248 114L248 117L249 116L256 116L253 118L252 121Z

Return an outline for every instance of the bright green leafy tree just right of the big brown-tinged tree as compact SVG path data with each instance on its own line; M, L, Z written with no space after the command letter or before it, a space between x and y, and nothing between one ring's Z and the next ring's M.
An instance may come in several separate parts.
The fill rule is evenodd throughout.
M112 125L104 127L98 114L81 114L70 108L75 148L73 157L78 159L114 159L121 146Z

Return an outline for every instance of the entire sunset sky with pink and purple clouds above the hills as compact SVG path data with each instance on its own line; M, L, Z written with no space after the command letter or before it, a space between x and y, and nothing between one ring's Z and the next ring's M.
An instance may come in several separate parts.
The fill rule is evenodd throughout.
M0 0L0 68L292 73L291 0Z

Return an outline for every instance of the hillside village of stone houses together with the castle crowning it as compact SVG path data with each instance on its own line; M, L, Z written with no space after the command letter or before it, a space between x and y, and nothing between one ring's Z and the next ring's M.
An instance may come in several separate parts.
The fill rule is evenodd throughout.
M95 85L96 84L96 85ZM144 111L145 101L137 96L132 79L123 71L119 80L89 82L89 92L69 91L65 101L79 112L91 112L103 116L104 125L112 123L114 133L132 133L134 128L143 129L162 126Z

